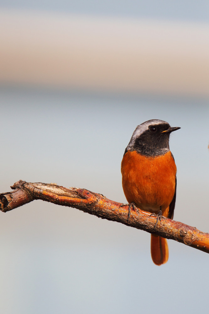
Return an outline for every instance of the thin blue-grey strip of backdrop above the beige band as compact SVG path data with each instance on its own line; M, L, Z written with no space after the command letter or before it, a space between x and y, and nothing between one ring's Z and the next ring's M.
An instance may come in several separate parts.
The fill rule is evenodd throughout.
M1 0L2 8L36 9L75 14L95 14L103 16L130 16L137 18L208 22L209 4L207 0Z

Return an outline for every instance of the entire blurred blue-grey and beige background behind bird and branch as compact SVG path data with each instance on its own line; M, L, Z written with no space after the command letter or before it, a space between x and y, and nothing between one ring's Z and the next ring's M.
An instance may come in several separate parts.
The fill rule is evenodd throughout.
M19 179L126 202L120 164L135 127L162 119L177 165L174 219L209 232L209 4L0 0L1 192ZM1 213L0 311L205 312L208 255L34 201Z

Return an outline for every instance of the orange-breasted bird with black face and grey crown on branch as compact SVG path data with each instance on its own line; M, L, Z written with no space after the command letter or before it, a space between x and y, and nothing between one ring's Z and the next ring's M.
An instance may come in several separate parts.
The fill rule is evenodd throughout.
M176 165L169 136L178 129L163 120L143 122L132 134L121 162L122 187L128 203L158 218L174 216ZM151 257L156 265L167 263L165 238L151 234Z

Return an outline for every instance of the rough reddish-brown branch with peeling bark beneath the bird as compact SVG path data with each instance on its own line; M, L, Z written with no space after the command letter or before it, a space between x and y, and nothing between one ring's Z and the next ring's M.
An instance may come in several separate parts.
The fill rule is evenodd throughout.
M7 212L35 199L58 205L78 208L83 212L102 219L120 222L124 225L154 233L163 238L172 239L198 250L209 253L209 233L201 232L195 227L162 217L155 226L156 217L139 208L129 215L128 205L120 207L121 203L114 202L86 189L66 188L56 184L31 183L18 181L11 188L13 192L0 194L0 210Z

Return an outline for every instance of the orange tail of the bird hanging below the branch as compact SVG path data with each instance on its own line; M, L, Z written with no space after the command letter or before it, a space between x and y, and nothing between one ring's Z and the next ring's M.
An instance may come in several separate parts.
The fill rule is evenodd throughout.
M154 234L151 235L151 256L156 265L162 265L168 262L169 250L165 238Z

